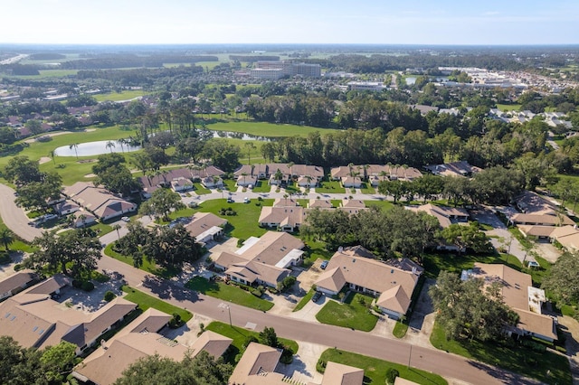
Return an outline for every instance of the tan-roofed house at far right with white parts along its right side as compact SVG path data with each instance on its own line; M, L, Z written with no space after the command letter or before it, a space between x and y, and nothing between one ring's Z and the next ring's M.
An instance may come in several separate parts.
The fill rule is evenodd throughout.
M557 339L555 321L542 315L545 291L533 286L531 276L502 264L476 262L471 270L463 270L461 279L480 278L484 286L498 283L505 305L519 316L519 322L508 333L530 335L553 342Z

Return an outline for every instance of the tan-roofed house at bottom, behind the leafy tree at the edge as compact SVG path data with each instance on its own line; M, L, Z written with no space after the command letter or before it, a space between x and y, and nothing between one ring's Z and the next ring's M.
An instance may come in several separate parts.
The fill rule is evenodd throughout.
M138 359L158 354L181 361L189 352L193 357L205 351L220 357L232 339L205 331L190 347L176 343L163 335L171 315L149 308L132 323L115 334L77 365L72 375L85 383L109 385L119 379L122 372Z

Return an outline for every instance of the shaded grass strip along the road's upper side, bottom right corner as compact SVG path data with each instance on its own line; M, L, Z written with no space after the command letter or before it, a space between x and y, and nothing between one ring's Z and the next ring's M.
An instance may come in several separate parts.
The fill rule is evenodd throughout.
M554 352L534 352L523 346L511 348L502 343L480 343L476 340L447 341L444 330L437 322L432 328L431 343L437 349L515 371L544 383L573 383L568 359Z

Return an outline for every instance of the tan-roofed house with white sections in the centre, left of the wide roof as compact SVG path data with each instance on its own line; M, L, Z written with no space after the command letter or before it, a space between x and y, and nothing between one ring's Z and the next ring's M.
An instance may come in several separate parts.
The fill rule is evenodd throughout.
M277 287L289 276L289 268L303 261L304 244L285 232L268 231L261 238L251 237L235 253L222 252L214 267L244 285Z

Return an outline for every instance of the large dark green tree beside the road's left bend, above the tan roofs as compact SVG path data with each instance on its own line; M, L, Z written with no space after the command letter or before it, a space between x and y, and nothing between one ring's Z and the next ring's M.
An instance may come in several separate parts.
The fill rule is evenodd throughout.
M100 259L100 240L92 230L70 230L58 237L43 232L33 240L38 250L26 259L27 265L35 270L48 267L52 271L61 270L74 278L88 277L97 268ZM69 270L70 269L70 270Z

